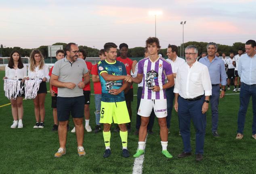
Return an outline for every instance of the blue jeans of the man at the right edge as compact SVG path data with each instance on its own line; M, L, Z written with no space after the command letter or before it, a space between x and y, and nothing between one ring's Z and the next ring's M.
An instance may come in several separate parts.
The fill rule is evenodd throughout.
M241 83L240 88L240 107L238 112L237 119L237 133L243 134L244 122L246 121L246 112L248 108L248 104L250 101L250 97L252 96L252 135L256 134L256 84L255 85L247 85L245 83Z

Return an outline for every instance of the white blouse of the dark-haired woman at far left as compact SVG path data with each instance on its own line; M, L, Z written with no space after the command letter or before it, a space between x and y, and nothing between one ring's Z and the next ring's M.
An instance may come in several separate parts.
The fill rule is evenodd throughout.
M23 68L16 70L14 68L9 68L8 65L5 66L5 76L8 79L18 80L27 77L27 66L23 64Z

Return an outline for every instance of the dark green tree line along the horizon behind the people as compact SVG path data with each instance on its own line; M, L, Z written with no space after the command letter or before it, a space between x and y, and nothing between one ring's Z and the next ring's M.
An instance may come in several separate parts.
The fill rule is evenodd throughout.
M67 43L54 43L52 45L63 45L63 48L65 48ZM201 54L201 52L207 52L207 49L206 49L207 42L189 41L187 43L184 43L184 49L189 45L197 46L199 55ZM245 45L245 43L241 43L241 42L233 43L232 46L218 44L218 52L220 53L220 55L221 55L221 53L225 53L227 56L231 52L237 54L238 49L242 49L243 52L245 51L244 45ZM164 45L164 46L162 45L162 47L167 47L167 46L168 45ZM177 55L181 55L180 52L182 52L182 50L180 50L180 47L182 48L182 46L183 45L178 46L178 54ZM129 48L128 49L128 57L130 57L130 58L143 57L144 56L144 48L145 47ZM33 49L26 49L26 48L24 49L21 47L13 47L13 48L12 47L3 47L2 44L1 44L0 49L1 49L0 54L2 55L2 57L9 57L10 53L11 53L11 51L13 51L13 49L18 50L21 53L22 57L25 57L25 56L29 57L31 51L33 50ZM46 59L48 58L48 46L43 45L36 49L39 49ZM98 55L99 49L91 48L91 47L87 47L87 46L83 46L83 45L80 45L79 49L84 49L87 52L87 57L99 57L99 55ZM159 50L159 54L162 54L163 57L166 56L166 52L167 52L167 48ZM118 56L119 55L120 55L120 52L118 51Z

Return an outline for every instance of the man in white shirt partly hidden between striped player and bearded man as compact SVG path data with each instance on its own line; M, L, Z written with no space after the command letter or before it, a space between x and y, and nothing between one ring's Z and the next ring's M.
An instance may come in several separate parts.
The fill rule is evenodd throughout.
M178 47L176 45L168 45L167 49L167 56L168 59L166 59L168 62L171 63L172 66L172 73L174 76L174 83L176 79L176 74L178 72L178 66L180 64L185 63L185 60L177 56L178 53ZM174 100L174 86L166 89L166 100L167 100L167 117L166 117L166 123L168 128L168 133L170 133L170 123L172 118L172 107L173 107L173 100Z

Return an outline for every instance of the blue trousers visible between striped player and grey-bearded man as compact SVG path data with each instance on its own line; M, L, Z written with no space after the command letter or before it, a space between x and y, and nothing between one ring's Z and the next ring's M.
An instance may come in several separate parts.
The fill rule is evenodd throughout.
M166 100L167 100L167 117L166 124L167 128L170 129L171 118L172 118L172 108L173 108L173 100L174 100L174 86L166 89ZM179 121L180 123L180 121Z

